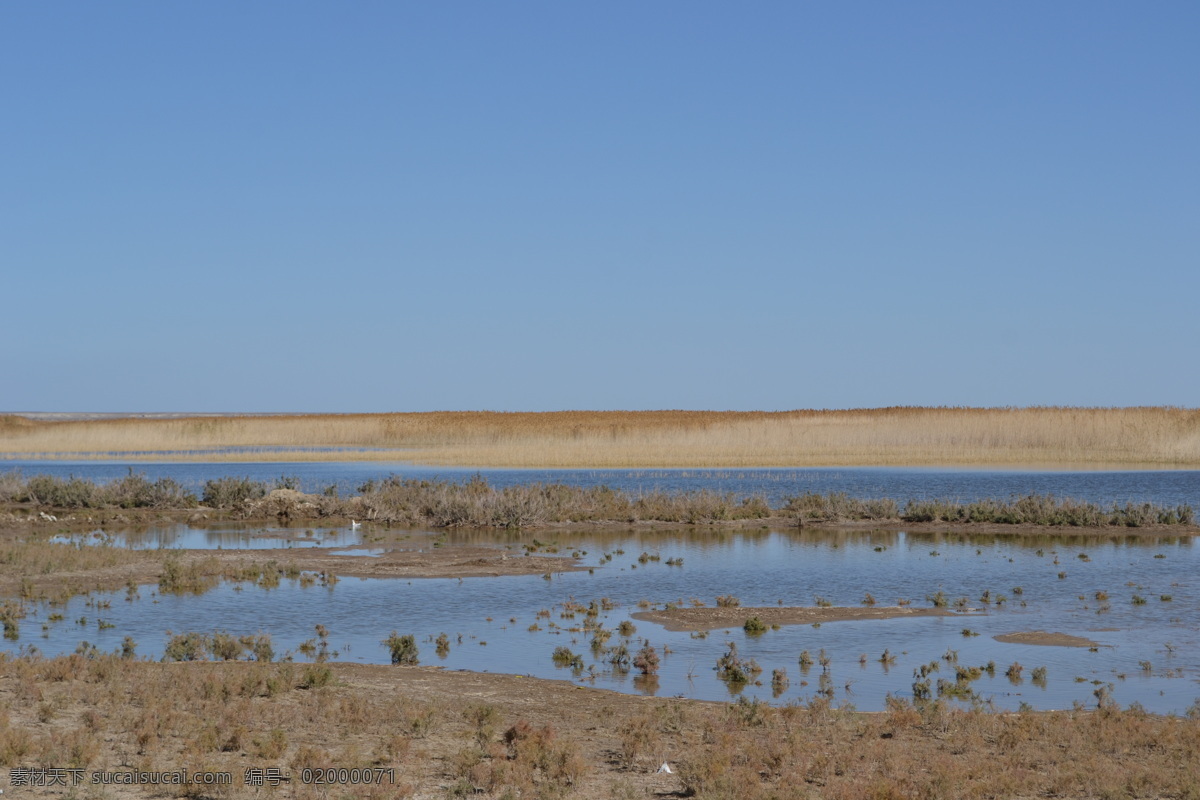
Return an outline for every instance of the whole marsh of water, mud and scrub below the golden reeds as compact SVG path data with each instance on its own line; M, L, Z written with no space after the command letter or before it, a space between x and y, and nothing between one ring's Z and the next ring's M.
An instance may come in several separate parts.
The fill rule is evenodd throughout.
M1073 798L1111 793L1130 776L1153 788L1146 796L1174 796L1193 786L1196 473L538 474L564 487L548 491L504 470L451 471L454 488L438 482L445 471L413 468L389 488L361 464L240 465L229 481L224 467L199 467L64 464L37 486L70 486L78 494L64 497L83 498L79 506L10 504L5 763L67 758L58 742L68 732L91 747L78 758L92 768L236 757L294 772L400 769L398 792L362 796L514 787L752 796L794 781L846 796L884 784L936 796L974 781ZM253 491L228 507L197 506L214 479ZM160 497L158 481L175 482L158 487L173 498L193 493L192 505L136 505ZM313 494L271 489L281 483ZM1046 494L1018 497L1034 489ZM370 505L384 498L372 492L391 492L392 505ZM888 519L853 518L889 495L907 501ZM442 528L322 516L414 497L451 506L475 498L479 507ZM503 497L569 501L542 509L540 527L472 527L493 518L480 509ZM638 518L547 522L596 498ZM1111 511L1121 524L895 518L929 507L1043 522ZM302 509L313 516L296 516ZM698 516L670 522L682 512ZM395 666L410 663L413 648L420 666ZM194 709L160 708L164 680L184 681L172 691L194 694ZM392 710L365 711L397 692ZM788 733L797 721L799 738ZM1130 754L1129 734L1114 739L1105 726L1142 732L1134 738L1145 750ZM536 756L512 744L527 728L541 736ZM979 741L947 750L947 730ZM881 744L863 750L864 735ZM995 736L1008 744L989 750ZM1062 742L1070 756L1057 758ZM833 760L814 760L817 745L832 746ZM726 763L728 752L740 754ZM877 766L845 760L859 758ZM982 771L978 758L988 759ZM655 774L664 759L678 774ZM222 796L256 792L239 782ZM296 787L295 796L320 794Z

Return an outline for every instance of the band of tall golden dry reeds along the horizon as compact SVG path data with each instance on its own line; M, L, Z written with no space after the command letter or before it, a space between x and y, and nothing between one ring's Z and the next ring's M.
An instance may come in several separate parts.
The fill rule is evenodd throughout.
M220 452L223 449L230 452ZM0 457L596 468L1184 468L1200 465L1200 409L433 411L77 421L0 416Z

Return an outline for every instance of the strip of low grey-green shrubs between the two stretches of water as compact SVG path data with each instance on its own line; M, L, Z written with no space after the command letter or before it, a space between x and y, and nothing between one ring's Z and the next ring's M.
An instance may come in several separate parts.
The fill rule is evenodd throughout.
M1195 524L1190 505L1153 503L1102 505L1050 494L970 503L940 499L858 499L845 493L804 493L772 506L762 495L708 489L631 493L607 486L528 483L494 487L480 475L463 482L403 479L367 481L343 497L336 486L317 494L298 491L299 479L274 483L247 477L205 482L197 494L170 477L150 481L128 475L97 482L52 475L0 473L0 503L10 509L215 509L244 518L354 518L434 528L539 528L568 523L719 523L790 519L796 524L836 522L955 523L1072 528L1150 528ZM43 512L44 513L44 512Z

